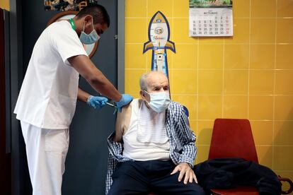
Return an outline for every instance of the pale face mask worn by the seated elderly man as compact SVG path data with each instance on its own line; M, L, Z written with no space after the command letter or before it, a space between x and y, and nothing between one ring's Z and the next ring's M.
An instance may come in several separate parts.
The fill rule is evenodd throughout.
M144 92L147 93L146 91ZM151 98L151 100L148 102L149 107L151 107L151 109L154 110L155 112L159 113L159 112L165 111L171 102L169 93L159 92L159 93L147 93L147 94L149 94Z

